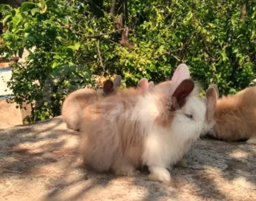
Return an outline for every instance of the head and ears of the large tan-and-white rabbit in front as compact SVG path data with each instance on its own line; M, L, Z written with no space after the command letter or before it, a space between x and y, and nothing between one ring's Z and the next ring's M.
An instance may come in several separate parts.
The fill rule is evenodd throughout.
M154 87L159 115L155 123L181 133L185 139L199 137L205 119L206 105L199 99L199 84L190 79L186 64L180 64L172 80ZM179 130L179 131L178 131Z

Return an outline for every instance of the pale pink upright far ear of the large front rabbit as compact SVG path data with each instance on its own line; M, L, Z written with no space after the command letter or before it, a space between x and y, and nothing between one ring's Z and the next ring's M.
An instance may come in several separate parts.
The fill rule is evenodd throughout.
M177 69L173 73L172 85L171 85L172 93L176 90L176 88L180 85L180 83L185 79L190 79L190 71L188 69L188 66L182 63L177 67Z

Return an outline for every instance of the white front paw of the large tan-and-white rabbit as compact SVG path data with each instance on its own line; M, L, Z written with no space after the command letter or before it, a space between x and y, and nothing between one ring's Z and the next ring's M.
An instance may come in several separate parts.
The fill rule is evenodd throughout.
M169 182L171 180L171 175L169 171L164 167L149 167L149 171L149 180L159 182Z

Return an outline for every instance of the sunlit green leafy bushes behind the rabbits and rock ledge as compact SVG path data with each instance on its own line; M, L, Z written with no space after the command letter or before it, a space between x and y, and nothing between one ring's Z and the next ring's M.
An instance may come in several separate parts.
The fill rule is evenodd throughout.
M245 20L245 2L240 0L117 1L118 14L120 2L128 4L123 16L133 49L120 44L113 23L117 16L109 14L112 1L86 2L35 0L20 8L0 6L5 27L0 53L22 55L24 48L36 47L24 64L13 66L9 82L13 101L35 103L29 121L59 115L72 86L96 87L92 75L120 74L128 86L142 77L157 83L183 62L204 89L217 84L220 95L235 93L255 78L253 1L246 3ZM50 105L45 102L47 87L52 90Z

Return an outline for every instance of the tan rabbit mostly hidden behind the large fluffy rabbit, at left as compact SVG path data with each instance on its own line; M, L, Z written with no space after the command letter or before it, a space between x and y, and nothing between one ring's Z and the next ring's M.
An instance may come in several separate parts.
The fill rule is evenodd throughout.
M62 106L62 119L67 127L73 130L78 129L78 121L81 117L81 111L87 105L94 103L98 97L107 96L116 93L121 84L122 77L117 76L113 81L106 80L102 89L94 90L91 88L81 88L70 93Z

